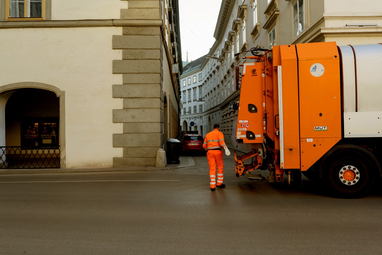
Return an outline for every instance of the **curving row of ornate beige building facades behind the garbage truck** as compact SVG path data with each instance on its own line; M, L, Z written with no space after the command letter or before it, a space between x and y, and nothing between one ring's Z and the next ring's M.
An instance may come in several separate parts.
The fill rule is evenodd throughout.
M223 0L214 32L216 41L204 62L193 70L202 77L198 86L202 88L203 112L196 115L203 120L203 135L219 123L229 143L237 116L233 106L240 96L235 67L253 61L243 59L252 55L251 48L328 41L337 45L379 43L382 15L376 10L380 7L382 3L376 0L351 5L346 0ZM186 80L188 86L194 73L182 74L181 82ZM184 94L183 87L181 91ZM194 106L188 107L192 112ZM188 117L193 116L183 110L182 130L191 128Z

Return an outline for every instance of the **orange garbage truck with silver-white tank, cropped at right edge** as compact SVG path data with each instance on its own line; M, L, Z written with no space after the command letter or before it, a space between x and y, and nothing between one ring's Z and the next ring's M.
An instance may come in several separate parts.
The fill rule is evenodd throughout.
M365 195L382 175L382 44L251 52L236 68L232 137L237 149L250 149L240 156L235 150L236 176L301 184L304 174L335 197Z

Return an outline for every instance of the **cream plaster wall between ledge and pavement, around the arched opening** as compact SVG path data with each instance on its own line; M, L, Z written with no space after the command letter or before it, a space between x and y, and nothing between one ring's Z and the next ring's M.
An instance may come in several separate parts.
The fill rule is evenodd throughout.
M123 1L121 1L123 2ZM113 74L112 61L122 51L112 49L112 36L122 28L2 29L0 86L36 82L65 91L66 168L112 167L112 109L123 107L112 96L112 85L122 83Z

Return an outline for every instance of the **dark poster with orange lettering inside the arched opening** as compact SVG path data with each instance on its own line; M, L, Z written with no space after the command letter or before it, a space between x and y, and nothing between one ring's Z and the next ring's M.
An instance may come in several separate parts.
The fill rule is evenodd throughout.
M21 147L58 147L58 118L28 118L21 121Z

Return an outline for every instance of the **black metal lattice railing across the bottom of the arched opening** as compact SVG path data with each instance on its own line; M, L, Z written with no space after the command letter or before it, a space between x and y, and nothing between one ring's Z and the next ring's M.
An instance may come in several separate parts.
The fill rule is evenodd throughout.
M0 168L60 168L60 148L0 146Z

